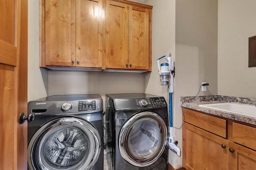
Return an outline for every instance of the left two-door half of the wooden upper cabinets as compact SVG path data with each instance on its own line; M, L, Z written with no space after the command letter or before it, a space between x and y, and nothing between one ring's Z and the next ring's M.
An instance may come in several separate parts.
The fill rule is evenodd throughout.
M102 0L42 0L40 66L102 68Z

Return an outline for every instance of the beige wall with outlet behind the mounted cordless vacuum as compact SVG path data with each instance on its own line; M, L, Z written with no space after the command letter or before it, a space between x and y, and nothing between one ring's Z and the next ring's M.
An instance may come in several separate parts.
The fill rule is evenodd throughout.
M174 78L173 126L181 127L180 96L195 96L202 82L207 92L217 94L217 0L146 0L153 5L152 72L145 73L145 92L161 95L168 101L168 87L159 85L156 59L172 53ZM182 149L182 131L175 129L175 140ZM174 168L182 166L182 156L169 151Z

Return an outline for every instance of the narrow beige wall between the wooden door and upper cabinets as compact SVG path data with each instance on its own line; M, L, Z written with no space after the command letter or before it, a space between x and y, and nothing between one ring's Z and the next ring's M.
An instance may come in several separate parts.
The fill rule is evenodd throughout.
M48 71L39 68L39 2L28 0L28 102L48 95Z

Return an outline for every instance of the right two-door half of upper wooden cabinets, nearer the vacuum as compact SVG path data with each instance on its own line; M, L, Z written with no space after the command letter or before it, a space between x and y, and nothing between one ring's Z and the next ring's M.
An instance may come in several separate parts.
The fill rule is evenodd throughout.
M152 6L106 1L106 69L151 70Z

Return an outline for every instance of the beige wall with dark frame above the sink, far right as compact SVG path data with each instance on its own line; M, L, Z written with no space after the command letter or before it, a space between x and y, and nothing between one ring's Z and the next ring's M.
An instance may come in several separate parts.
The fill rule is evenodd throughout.
M256 98L256 67L248 67L248 37L256 35L256 1L218 3L218 95Z

